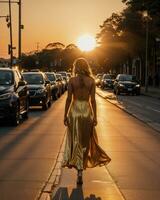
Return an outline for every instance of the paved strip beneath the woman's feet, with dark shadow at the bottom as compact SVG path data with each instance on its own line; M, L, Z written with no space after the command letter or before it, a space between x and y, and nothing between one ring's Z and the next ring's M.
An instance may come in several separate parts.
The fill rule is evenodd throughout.
M63 169L52 200L124 200L105 167L84 171L82 186L76 185L76 170Z

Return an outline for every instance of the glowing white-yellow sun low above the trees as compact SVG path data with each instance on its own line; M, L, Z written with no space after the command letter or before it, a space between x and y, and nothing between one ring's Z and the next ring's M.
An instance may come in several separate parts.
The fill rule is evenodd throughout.
M96 47L96 40L89 34L82 35L77 40L77 46L81 51L92 51Z

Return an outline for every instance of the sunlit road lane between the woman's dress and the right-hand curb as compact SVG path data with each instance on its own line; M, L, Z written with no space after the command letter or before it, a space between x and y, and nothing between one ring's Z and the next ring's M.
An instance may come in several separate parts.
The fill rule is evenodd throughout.
M98 105L98 132L112 158L108 169L125 199L160 199L159 133L101 98Z

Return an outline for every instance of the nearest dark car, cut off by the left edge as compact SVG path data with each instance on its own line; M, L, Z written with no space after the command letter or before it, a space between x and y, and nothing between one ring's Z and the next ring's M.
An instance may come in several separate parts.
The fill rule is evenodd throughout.
M18 125L20 115L28 117L28 90L17 69L0 68L0 118Z

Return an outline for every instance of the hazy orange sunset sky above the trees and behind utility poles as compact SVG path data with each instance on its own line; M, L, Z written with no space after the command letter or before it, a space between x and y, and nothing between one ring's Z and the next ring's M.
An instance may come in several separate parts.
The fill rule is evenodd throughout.
M96 36L99 25L112 12L124 7L121 0L22 0L22 51L44 48L50 42L76 43L79 36ZM17 45L18 6L12 4L14 46ZM8 5L0 4L0 15L8 14ZM9 29L0 19L0 57L8 57ZM14 50L17 55L17 50Z

